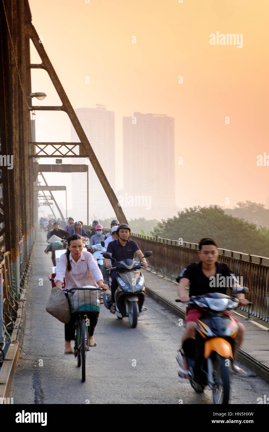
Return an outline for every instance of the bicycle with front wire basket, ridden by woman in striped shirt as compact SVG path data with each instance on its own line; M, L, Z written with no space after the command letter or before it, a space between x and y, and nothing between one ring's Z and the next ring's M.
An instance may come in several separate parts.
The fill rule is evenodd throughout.
M89 315L100 311L101 288L83 286L71 288L67 292L71 315L77 315L75 323L74 354L78 367L81 366L82 382L85 382L86 355L89 351L90 323Z

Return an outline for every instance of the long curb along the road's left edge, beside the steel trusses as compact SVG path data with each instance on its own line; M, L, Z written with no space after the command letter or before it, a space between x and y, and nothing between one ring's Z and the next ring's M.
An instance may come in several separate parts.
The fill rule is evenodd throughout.
M9 395L10 386L12 383L15 367L19 358L19 346L22 343L23 328L25 324L25 316L27 312L28 298L29 298L29 281L32 276L32 260L35 251L35 241L33 243L32 251L29 257L29 267L25 276L24 288L20 295L22 304L22 316L17 318L15 328L11 334L11 342L6 353L6 358L0 369L0 398L7 398Z

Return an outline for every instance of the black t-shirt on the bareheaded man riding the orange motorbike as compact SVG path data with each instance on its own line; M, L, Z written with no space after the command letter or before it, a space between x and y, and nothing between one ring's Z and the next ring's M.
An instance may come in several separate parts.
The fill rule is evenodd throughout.
M202 271L202 261L192 263L185 267L180 275L177 277L177 282L182 277L190 280L190 293L191 295L202 295L208 292L221 292L226 294L227 288L233 286L233 281L236 282L234 273L229 269L227 264L219 263L216 264L216 274L214 278L207 277ZM223 277L224 276L224 277Z

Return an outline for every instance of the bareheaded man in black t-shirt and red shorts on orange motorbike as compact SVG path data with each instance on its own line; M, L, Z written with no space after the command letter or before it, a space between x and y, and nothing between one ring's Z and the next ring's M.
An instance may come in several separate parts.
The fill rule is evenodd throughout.
M190 296L192 295L202 295L207 294L208 292L221 292L226 294L226 286L212 286L212 277L216 278L217 274L221 274L222 276L229 277L232 276L234 280L234 286L240 288L240 285L236 282L236 278L232 271L229 269L227 264L218 262L218 245L212 240L212 238L202 238L199 242L199 251L198 255L201 258L200 262L192 263L188 265L186 268L182 270L180 275L177 277L178 284L178 295L180 301L182 303L190 302ZM189 296L185 293L185 288L190 283L190 292ZM219 284L220 285L220 284ZM226 285L224 283L224 285ZM237 294L237 298L241 305L247 305L248 300L245 299L244 294ZM186 330L182 337L182 343L191 337L195 337L196 332L196 321L200 318L203 311L206 309L198 308L192 306L188 306L187 308L187 317L186 317ZM228 312L224 311L224 314L230 315ZM234 317L233 317L234 318ZM241 346L243 342L245 327L238 321L236 318L234 320L238 325L238 333L237 333L237 350ZM183 366L180 367L178 375L181 378L187 378L189 373L187 360L184 355L183 349L181 349L181 354L183 356ZM243 369L239 368L236 365L233 365L233 370L236 373L244 373Z

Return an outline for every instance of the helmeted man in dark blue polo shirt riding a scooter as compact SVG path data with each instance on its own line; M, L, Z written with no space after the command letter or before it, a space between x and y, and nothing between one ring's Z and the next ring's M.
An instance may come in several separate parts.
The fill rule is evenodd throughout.
M139 246L136 244L135 241L129 240L130 236L130 226L121 223L117 228L117 235L118 239L111 241L108 244L107 253L111 255L112 258L114 258L117 262L126 260L129 258L130 260L133 260L134 254L136 254L139 259L142 261L142 266L146 269L148 268L148 263L146 262L146 258L144 257L144 254L139 249ZM110 260L108 258L104 259L105 266L109 269L112 268L113 265L110 264ZM116 280L116 270L112 270L110 273L111 276L111 313L114 314L116 311L116 304L115 304L115 291L117 289L117 280Z

